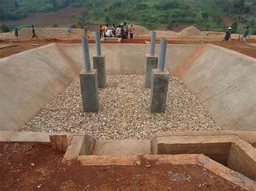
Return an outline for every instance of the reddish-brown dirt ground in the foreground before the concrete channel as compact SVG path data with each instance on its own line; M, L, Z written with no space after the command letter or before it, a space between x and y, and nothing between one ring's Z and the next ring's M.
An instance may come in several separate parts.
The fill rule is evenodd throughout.
M237 190L239 187L196 165L134 166L63 164L64 153L31 143L0 142L0 190ZM150 165L150 166L146 166Z

